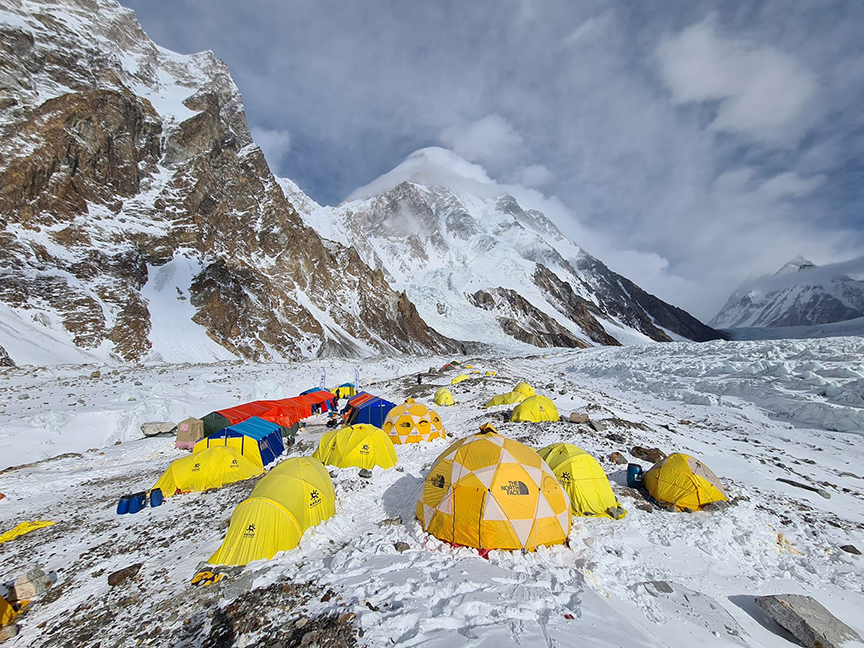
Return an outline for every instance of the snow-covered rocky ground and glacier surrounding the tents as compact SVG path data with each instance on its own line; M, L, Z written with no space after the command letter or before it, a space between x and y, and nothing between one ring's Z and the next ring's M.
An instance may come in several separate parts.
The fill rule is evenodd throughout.
M351 380L354 367L226 362L103 368L95 378L94 366L3 370L2 463L75 453L0 473L0 531L22 520L57 521L0 545L0 579L32 565L58 578L22 618L13 645L256 645L274 633L299 641L330 623L351 624L369 646L788 646L752 603L769 593L814 596L864 634L861 558L839 548L864 548L862 359L862 338L472 358L498 375L471 374L452 387L457 404L438 408L448 433L458 438L491 420L534 447L576 443L607 470L627 517L574 518L570 547L493 551L487 560L442 544L414 520L425 470L451 441L399 446L398 467L375 469L370 480L332 469L337 514L297 549L201 588L189 581L252 483L118 517L121 495L149 488L183 456L170 438L136 438L138 425L293 395L316 385L321 368L328 384ZM439 360L364 361L359 369L375 393L428 403L452 374L424 374L418 386L416 372ZM506 408L482 409L522 379L561 413L587 411L607 429L507 423ZM319 433L301 434L288 454L310 454ZM733 506L692 514L653 508L609 461L613 451L635 461L636 445L701 458ZM381 524L396 516L401 523ZM398 552L396 542L408 549ZM139 562L137 577L108 586L108 574Z

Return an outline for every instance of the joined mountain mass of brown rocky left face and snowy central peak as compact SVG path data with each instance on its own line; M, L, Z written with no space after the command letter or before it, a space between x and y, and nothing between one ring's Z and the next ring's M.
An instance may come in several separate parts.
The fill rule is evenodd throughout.
M316 205L270 172L226 66L113 0L6 4L0 35L0 364L719 336L443 149Z

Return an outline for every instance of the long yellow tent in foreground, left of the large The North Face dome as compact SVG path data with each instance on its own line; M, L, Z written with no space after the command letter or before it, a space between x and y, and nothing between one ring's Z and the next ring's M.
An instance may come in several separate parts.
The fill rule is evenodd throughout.
M264 476L231 514L214 565L245 565L293 549L307 529L336 513L333 482L312 457L287 459Z

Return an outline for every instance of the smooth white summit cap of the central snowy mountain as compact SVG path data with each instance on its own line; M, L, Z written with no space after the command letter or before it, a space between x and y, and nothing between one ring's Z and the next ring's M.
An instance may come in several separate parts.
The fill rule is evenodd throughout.
M356 189L348 200L378 196L403 182L428 187L448 187L457 193L486 197L500 193L500 188L482 166L469 162L453 151L430 146L415 151L392 170Z

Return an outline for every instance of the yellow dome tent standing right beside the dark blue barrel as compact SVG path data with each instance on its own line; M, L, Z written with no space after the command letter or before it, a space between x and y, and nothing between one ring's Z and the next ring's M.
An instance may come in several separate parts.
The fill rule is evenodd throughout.
M727 501L720 480L698 459L674 453L658 461L642 480L658 502L696 511L711 502Z

